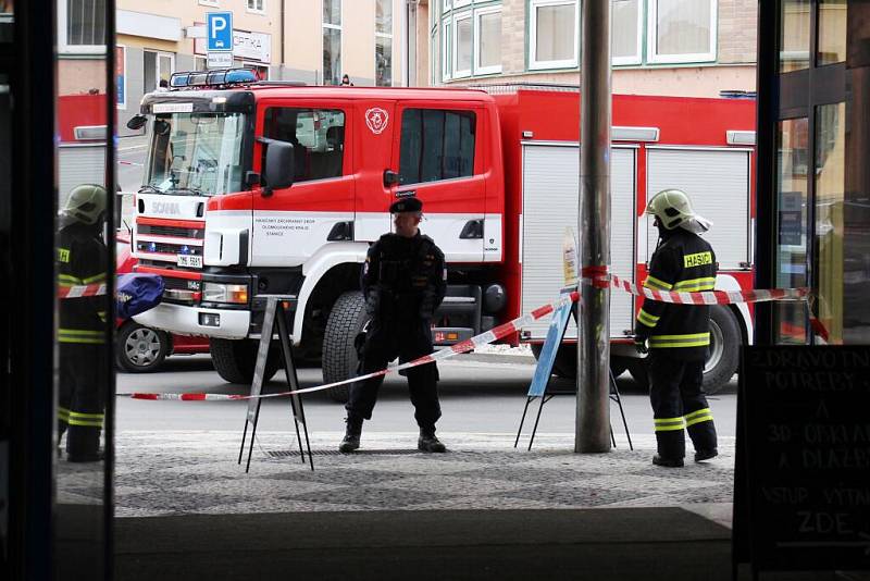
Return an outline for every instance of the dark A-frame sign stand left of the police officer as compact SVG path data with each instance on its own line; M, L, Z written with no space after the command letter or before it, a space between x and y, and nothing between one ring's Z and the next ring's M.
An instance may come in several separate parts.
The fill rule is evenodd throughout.
M253 382L251 383L251 399L248 400L248 413L245 417L245 431L241 434L241 447L238 450L238 463L241 463L241 458L245 454L245 442L248 436L248 425L251 427L251 440L248 446L248 462L245 467L245 472L250 471L251 468L251 454L253 453L253 440L257 436L257 422L260 419L260 404L262 399L257 397L263 388L263 374L265 373L265 363L269 357L269 347L272 343L272 335L277 331L278 338L281 339L281 354L284 359L284 371L287 375L287 386L290 391L299 388L299 379L296 375L296 366L293 360L293 342L290 334L287 330L287 316L284 309L284 301L295 300L295 296L283 295L266 295L268 299L265 313L263 314L263 327L260 332L260 347L257 349L257 364L253 370ZM276 329L277 327L277 329ZM308 461L311 470L314 470L314 458L311 455L311 442L308 438L308 427L306 424L306 412L302 408L302 398L299 395L291 395L290 410L293 411L293 421L296 425L296 440L299 443L299 456L302 458L302 463L306 463L306 448L308 449ZM299 431L299 425L302 427L302 432L306 435L306 445L302 447L302 434Z

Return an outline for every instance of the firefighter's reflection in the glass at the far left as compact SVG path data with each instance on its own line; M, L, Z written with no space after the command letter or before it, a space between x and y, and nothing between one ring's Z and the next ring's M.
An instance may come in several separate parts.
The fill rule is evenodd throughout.
M108 251L100 235L107 198L105 188L94 184L76 186L70 193L58 233L59 287L105 282ZM107 305L104 295L60 300L58 437L66 432L66 459L71 462L102 459Z

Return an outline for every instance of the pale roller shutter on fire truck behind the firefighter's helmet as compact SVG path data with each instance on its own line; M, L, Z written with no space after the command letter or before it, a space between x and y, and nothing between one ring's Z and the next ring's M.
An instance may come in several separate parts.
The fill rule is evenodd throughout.
M725 149L647 150L647 196L662 189L682 189L697 213L713 222L704 234L716 251L720 270L749 262L748 151ZM656 249L658 232L646 219L647 257Z

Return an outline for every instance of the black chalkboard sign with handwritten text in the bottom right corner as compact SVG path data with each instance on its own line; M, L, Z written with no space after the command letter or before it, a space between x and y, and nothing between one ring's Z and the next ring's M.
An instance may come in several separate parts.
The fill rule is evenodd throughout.
M870 569L870 347L745 347L741 373L753 565Z

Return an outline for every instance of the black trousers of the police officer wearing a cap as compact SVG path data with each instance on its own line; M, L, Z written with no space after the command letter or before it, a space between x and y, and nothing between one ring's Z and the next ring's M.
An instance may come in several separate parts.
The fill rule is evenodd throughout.
M428 321L373 321L362 347L361 373L372 373L387 367L396 357L399 362L411 361L432 353L432 332ZM414 419L421 430L435 432L435 422L442 417L438 403L438 369L427 363L400 372L408 378L408 390L414 406ZM345 409L349 418L372 419L377 401L377 391L384 376L357 382L350 387L350 399Z

